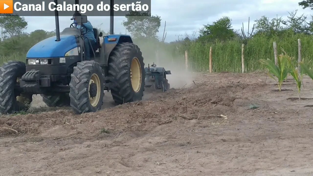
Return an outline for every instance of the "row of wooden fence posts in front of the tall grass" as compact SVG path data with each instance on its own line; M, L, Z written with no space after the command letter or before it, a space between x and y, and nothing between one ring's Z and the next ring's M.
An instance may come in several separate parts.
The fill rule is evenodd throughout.
M278 59L277 59L277 44L276 42L273 42L273 49L274 49L274 58L275 58L275 65L278 65ZM301 47L301 40L298 39L298 62L302 61L302 57L301 57L301 52L302 51L302 47ZM213 66L212 66L212 58L213 58L213 49L212 46L210 47L210 55L209 55L209 72L213 73ZM158 52L156 52L156 63L159 63L159 57L158 57ZM188 51L185 51L185 69L186 71L188 71ZM242 69L242 73L247 72L247 68L245 68L244 65L244 44L241 45L241 69ZM298 69L300 72L300 65L298 64Z

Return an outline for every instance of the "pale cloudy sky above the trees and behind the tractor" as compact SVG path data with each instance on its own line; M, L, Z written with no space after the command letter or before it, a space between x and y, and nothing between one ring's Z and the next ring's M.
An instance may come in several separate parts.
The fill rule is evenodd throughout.
M166 21L166 42L177 39L177 35L185 36L185 33L191 35L193 31L198 30L203 24L212 23L223 16L229 16L233 19L234 29L240 29L244 22L245 31L248 27L248 18L250 24L253 20L259 19L262 15L269 18L275 18L276 15L286 18L288 12L298 9L298 15L304 13L310 19L313 11L303 10L298 6L300 0L152 0L151 13L159 15L162 19L158 36L162 38L164 22ZM25 17L28 21L28 28L25 32L31 32L36 29L52 31L55 29L54 17ZM110 17L88 17L95 28L101 28L104 31L109 30ZM70 17L60 17L60 30L69 27L72 23ZM121 22L125 17L115 17L115 33L125 34L125 27ZM252 25L250 25L252 26ZM176 35L176 36L175 36Z

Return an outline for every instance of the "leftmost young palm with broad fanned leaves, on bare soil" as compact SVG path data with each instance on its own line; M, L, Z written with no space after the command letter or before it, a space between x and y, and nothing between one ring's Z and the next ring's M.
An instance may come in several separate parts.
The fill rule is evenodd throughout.
M286 57L283 57L283 55L280 55L280 57L277 58L278 65L275 65L275 63L270 59L260 59L260 62L266 66L266 68L269 70L268 75L269 77L273 78L278 85L279 91L281 91L281 85L283 84L283 81L287 78L288 75L288 60ZM275 77L277 80L275 79Z

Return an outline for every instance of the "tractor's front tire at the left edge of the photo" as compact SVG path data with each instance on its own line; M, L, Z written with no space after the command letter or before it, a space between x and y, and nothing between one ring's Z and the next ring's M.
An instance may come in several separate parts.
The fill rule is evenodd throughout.
M21 94L15 89L19 86L19 79L26 72L25 63L10 61L0 67L0 113L11 114L27 111L33 101L33 95Z

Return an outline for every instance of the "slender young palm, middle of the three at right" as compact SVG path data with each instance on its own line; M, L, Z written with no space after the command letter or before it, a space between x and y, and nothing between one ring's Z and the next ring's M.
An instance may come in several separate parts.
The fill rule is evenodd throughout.
M304 76L304 71L303 71L303 69L301 69L300 73L299 73L299 69L295 68L295 66L292 64L292 61L295 59L294 57L289 57L289 55L287 55L286 52L284 55L282 55L282 57L285 57L288 60L289 73L296 82L296 85L298 88L299 100L300 100L301 99L300 98L300 91L301 91L301 84L303 84L302 80L303 80L303 76Z

